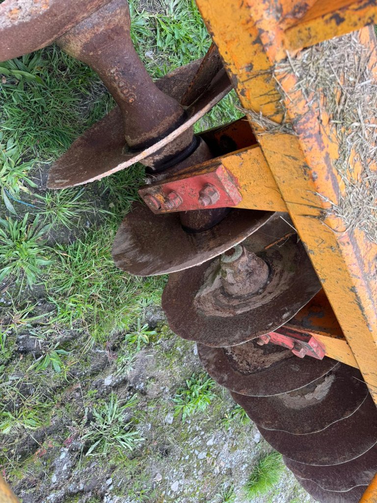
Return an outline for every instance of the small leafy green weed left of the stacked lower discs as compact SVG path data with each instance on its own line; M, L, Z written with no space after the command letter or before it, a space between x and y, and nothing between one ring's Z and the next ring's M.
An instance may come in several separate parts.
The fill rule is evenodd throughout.
M193 374L175 393L172 400L174 415L182 414L182 423L184 423L187 417L191 417L196 412L204 412L217 396L213 391L215 385L215 381L208 374Z

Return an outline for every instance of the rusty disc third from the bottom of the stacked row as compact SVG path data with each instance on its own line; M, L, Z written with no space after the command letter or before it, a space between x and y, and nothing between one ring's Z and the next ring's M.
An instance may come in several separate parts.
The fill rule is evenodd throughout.
M334 465L361 456L377 442L377 411L368 394L353 414L320 432L293 435L258 429L287 458L309 465Z

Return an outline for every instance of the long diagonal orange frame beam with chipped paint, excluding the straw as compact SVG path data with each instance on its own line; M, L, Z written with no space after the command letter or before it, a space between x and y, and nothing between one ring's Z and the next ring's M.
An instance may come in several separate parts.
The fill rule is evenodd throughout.
M290 66L294 56L287 60L284 30L279 25L294 4L291 0L273 4L197 0L197 4L377 402L377 244L357 226L347 227L334 211L347 194L336 169L339 143L332 131L331 111L325 102L320 103L319 112L310 105L311 89L298 85L299 77ZM369 51L371 79L376 81L372 30L364 28L353 37ZM341 51L339 57L343 57ZM286 63L284 74L276 67L282 62ZM353 162L353 172L362 173L359 162Z

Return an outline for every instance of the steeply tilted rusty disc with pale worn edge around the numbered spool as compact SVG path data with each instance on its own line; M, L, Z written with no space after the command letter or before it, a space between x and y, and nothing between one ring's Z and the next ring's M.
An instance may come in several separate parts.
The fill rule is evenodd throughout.
M178 102L187 82L196 74L200 62L177 68L169 76L156 81L156 86ZM186 119L173 132L152 146L139 151L128 148L124 137L124 123L119 107L115 107L99 122L87 129L52 165L47 181L49 189L65 189L101 180L126 167L141 162L173 142L209 112L232 89L225 70L220 70L206 93L186 109Z

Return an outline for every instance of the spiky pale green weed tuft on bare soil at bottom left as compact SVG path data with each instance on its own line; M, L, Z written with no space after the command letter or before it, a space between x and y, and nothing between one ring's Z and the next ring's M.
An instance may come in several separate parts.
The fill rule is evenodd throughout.
M135 404L136 395L122 404L113 393L107 403L93 407L93 420L82 436L89 446L86 456L106 455L114 448L125 454L140 444L142 437L134 429L132 421L125 418L127 409Z

